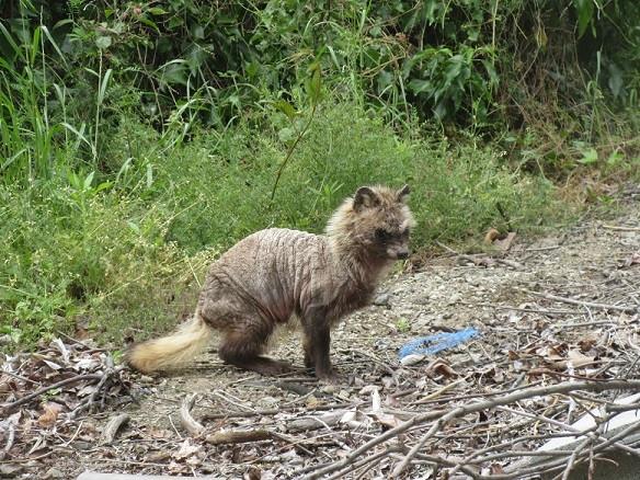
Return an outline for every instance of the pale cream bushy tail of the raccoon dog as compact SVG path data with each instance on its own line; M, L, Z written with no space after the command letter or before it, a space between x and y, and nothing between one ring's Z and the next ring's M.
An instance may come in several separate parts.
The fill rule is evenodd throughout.
M209 325L196 313L172 335L132 345L125 362L145 374L171 369L193 358L205 347L210 334Z

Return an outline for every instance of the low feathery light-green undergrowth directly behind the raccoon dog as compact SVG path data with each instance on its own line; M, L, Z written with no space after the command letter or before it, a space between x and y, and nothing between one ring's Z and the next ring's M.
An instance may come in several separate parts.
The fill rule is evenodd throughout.
M286 150L277 135L286 122L272 115L271 132L248 122L164 149L153 129L124 119L112 149L125 137L140 148L111 180L72 174L0 188L0 235L10 239L0 244L4 332L32 344L57 331L122 342L167 330L191 313L220 251L270 226L322 232L362 184L411 184L419 250L555 218L551 185L511 172L500 152L403 138L348 102L320 105L271 202Z

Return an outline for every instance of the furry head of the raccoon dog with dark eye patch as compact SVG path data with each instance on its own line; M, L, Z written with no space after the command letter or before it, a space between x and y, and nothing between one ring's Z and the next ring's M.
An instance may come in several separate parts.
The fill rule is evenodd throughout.
M387 260L409 256L415 220L407 206L409 185L400 190L362 186L335 212L327 232L343 245L357 245Z

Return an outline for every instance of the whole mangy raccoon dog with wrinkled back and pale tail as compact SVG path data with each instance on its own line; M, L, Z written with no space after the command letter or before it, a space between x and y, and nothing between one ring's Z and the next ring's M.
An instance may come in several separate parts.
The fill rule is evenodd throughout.
M330 331L363 308L397 260L409 255L415 225L409 186L363 186L335 210L325 235L270 228L238 242L207 275L193 318L175 333L133 345L126 361L149 373L173 368L221 333L222 361L277 375L287 364L263 356L278 324L294 316L304 333L305 365L331 379Z

